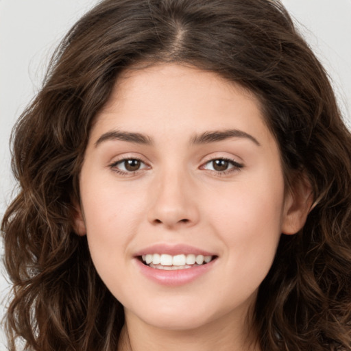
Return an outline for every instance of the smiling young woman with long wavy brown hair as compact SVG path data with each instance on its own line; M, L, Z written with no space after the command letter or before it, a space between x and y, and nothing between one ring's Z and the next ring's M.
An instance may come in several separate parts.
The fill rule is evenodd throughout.
M350 150L278 1L101 2L14 130L10 349L348 350Z

